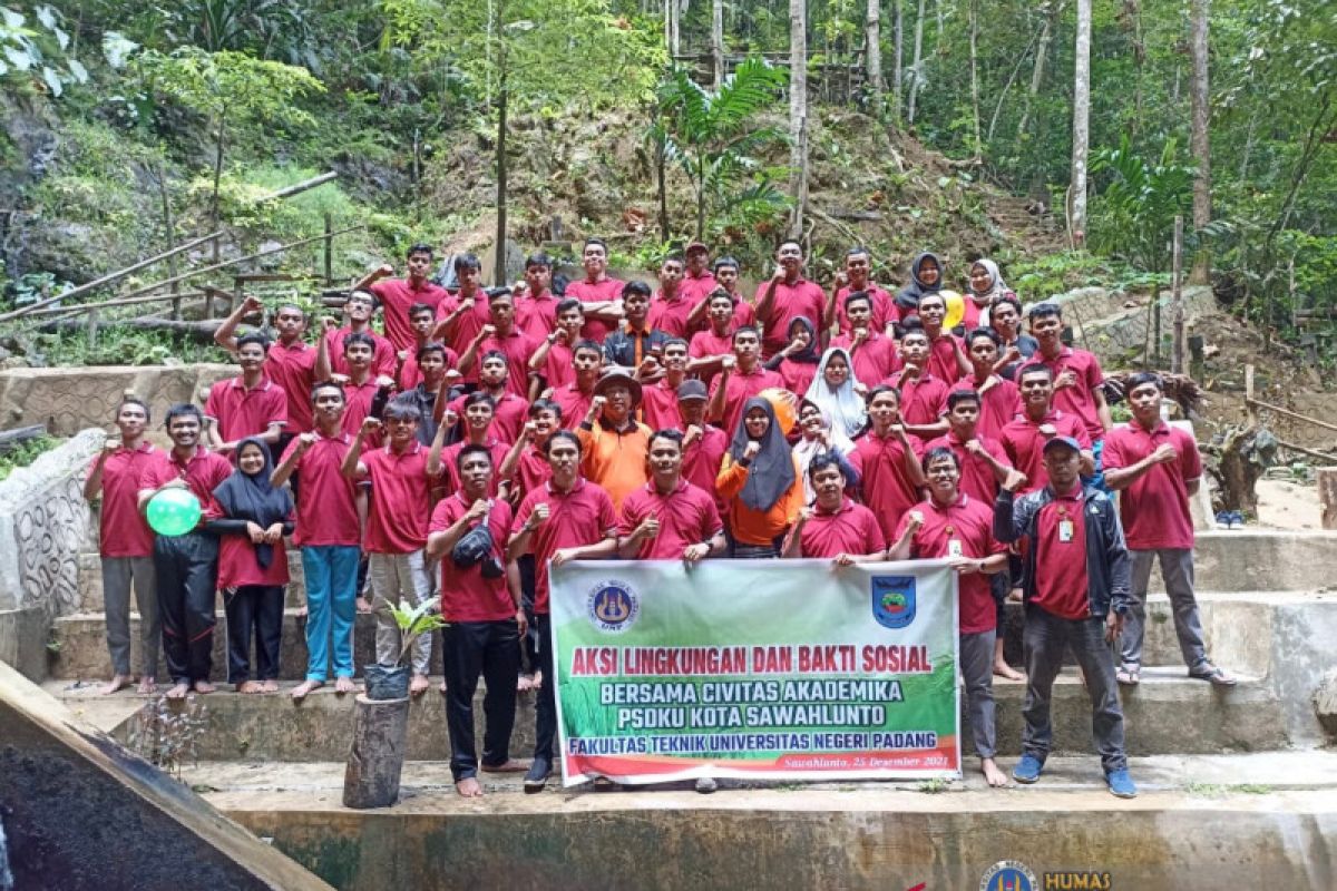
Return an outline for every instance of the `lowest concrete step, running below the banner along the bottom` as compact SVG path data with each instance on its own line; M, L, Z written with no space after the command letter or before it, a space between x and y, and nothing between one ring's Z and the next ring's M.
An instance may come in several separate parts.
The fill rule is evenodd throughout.
M1016 860L1035 887L1197 891L1333 887L1332 753L1135 759L1139 797L1103 788L1094 757L1051 759L1034 787L973 772L917 783L722 783L524 795L483 777L461 799L440 763L409 763L392 808L344 808L342 763L234 763L183 779L219 811L352 891L414 888L977 888ZM1003 761L1011 769L1009 760ZM944 791L944 793L928 793ZM366 840L376 839L374 851ZM1058 870L1107 875L1062 884ZM1054 884L1046 884L1048 876Z

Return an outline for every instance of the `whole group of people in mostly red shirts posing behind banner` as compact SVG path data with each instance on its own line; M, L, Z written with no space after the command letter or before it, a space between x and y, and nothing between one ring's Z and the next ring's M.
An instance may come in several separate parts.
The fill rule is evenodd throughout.
M439 598L451 769L464 796L483 793L479 769L527 769L531 791L552 769L548 573L571 560L951 561L961 677L991 785L1007 781L992 679L1021 677L997 633L1009 596L1025 613L1019 781L1043 769L1051 688L1071 648L1110 789L1135 793L1118 685L1139 681L1158 556L1190 675L1234 683L1207 657L1194 601L1197 445L1165 422L1154 374L1130 379L1132 419L1111 422L1100 365L1063 342L1058 305L1029 307L1023 333L1021 303L988 259L967 270L955 329L933 254L892 294L870 279L869 252L852 248L828 293L805 278L802 246L785 242L753 299L738 291L739 264L711 263L701 243L663 260L658 289L611 278L607 259L588 239L583 278L554 293L544 255L527 259L521 283L496 289L483 287L476 256L460 255L447 290L431 279L432 248L414 244L404 278L381 266L357 282L342 323L321 318L314 343L291 303L273 307L273 341L238 334L263 309L239 305L217 339L241 374L215 383L203 407L170 409L170 449L146 439L148 405L127 394L119 435L86 485L102 500L106 691L134 683L131 586L142 691L155 688L159 640L168 696L214 689L218 593L229 683L277 691L287 542L306 588L297 699L332 677L336 691L354 689L360 609L376 613L377 661L393 664L386 606ZM193 492L203 516L193 532L155 536L143 510L171 486ZM431 636L413 644L413 695L429 688L432 647ZM537 691L528 765L508 751L527 688Z

